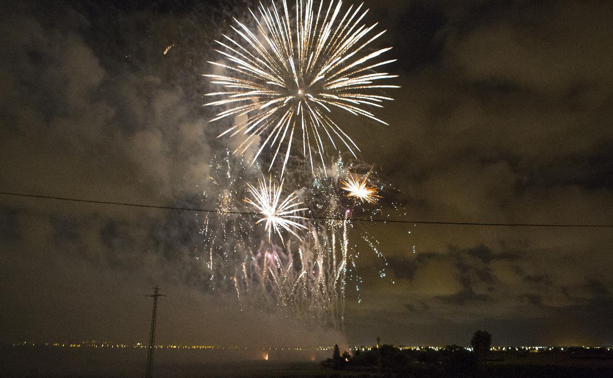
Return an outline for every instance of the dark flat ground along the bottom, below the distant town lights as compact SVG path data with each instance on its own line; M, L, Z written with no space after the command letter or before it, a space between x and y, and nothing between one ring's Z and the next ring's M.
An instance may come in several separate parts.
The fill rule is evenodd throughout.
M613 358L562 353L493 353L484 368L413 361L384 367L324 368L328 352L261 350L156 350L158 377L613 377ZM316 357L316 361L310 361ZM145 349L71 349L59 347L0 347L2 377L141 377Z

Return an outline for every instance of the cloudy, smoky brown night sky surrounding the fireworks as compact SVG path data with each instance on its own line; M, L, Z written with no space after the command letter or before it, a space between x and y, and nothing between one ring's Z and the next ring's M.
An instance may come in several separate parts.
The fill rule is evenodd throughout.
M375 110L390 126L345 130L407 219L613 224L613 3L365 3L402 88ZM198 206L228 143L200 75L248 6L3 6L0 191ZM611 228L364 225L387 275L360 253L361 303L350 290L335 333L203 289L196 217L0 195L0 341L144 342L158 284L161 343L468 344L485 329L494 345L613 344Z

